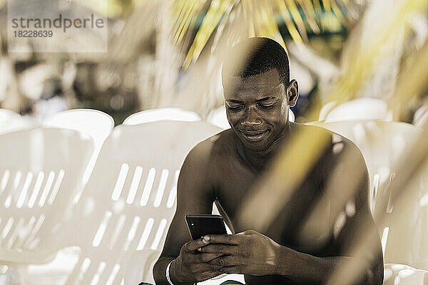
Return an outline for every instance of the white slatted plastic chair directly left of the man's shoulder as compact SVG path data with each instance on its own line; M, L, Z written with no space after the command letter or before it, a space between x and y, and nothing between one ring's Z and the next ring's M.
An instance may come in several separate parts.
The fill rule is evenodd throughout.
M64 229L63 247L78 246L81 253L66 284L122 284L126 274L127 284L153 283L151 270L175 212L183 160L219 131L208 123L179 121L116 127ZM137 260L146 265L136 273Z

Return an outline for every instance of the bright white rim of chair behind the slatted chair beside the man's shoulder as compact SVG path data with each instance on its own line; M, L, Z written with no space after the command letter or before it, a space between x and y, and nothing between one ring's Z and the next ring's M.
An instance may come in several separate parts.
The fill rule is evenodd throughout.
M180 108L159 108L143 110L126 118L122 125L138 125L141 123L156 122L158 120L180 120L183 122L195 122L200 116L192 111Z

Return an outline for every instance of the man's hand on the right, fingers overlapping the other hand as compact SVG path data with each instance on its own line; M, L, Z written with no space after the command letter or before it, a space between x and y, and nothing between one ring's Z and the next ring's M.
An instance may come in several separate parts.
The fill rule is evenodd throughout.
M276 252L280 245L253 230L239 234L210 234L208 245L198 249L205 254L221 254L209 261L223 273L250 275L275 274ZM224 254L224 255L223 255Z

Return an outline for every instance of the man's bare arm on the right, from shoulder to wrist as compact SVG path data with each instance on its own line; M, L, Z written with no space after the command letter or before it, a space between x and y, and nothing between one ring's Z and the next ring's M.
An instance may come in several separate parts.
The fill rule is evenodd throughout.
M382 284L382 247L368 205L367 168L362 157L353 160L352 165L353 171L361 170L363 174L358 175L360 182L355 195L347 200L341 211L336 211L333 231L338 256L314 257L281 247L277 274L302 283L324 284L330 280L331 284Z

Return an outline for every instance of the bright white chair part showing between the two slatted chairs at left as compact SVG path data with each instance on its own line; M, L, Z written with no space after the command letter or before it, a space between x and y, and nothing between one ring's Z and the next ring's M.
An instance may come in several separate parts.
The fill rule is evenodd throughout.
M71 109L51 115L44 120L42 125L49 128L78 130L93 138L95 149L83 174L83 185L85 185L91 175L93 165L95 165L96 157L98 157L103 142L113 130L114 120L111 118L111 115L103 113L100 110ZM76 199L78 199L78 196Z

